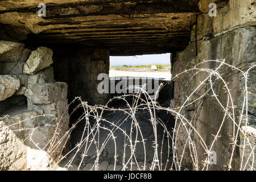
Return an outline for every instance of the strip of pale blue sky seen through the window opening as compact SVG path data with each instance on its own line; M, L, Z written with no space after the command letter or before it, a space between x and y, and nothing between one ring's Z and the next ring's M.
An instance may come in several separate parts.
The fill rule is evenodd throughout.
M160 55L110 56L110 67L150 64L170 64L170 53Z

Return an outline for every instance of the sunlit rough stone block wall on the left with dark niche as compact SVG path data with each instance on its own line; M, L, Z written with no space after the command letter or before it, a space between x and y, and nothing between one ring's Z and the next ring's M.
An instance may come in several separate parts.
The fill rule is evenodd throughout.
M63 150L68 85L51 64L49 48L0 41L0 170L49 169Z

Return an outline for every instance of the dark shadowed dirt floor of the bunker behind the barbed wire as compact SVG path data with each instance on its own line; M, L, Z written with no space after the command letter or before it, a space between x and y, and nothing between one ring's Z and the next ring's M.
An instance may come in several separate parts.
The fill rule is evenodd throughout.
M125 107L124 107L125 108ZM119 125L119 123L121 123L125 118L126 121L122 123L122 125L120 125L119 127L126 131L127 134L131 134L132 138L135 139L135 135L137 134L137 132L135 131L135 129L132 129L132 133L130 133L131 131L131 122L132 119L130 117L127 117L128 115L123 113L123 111L106 111L103 115L102 118L104 118L106 121L110 121L112 123L114 123L115 125ZM172 118L170 113L167 113L166 111L162 111L162 110L158 110L156 111L156 117L160 118L167 126L168 129L171 130L172 127ZM136 161L133 160L132 166L129 163L126 168L126 170L128 171L137 171L137 170L150 170L152 169L152 160L154 160L154 155L155 155L155 150L154 150L154 141L155 141L155 137L157 138L157 140L159 141L159 148L158 148L158 155L159 155L159 159L161 160L161 164L162 164L162 168L166 167L166 161L167 159L171 159L171 149L168 149L168 146L171 146L171 142L167 140L167 137L163 137L163 127L158 125L157 126L157 134L154 134L153 131L153 127L152 127L152 123L150 122L150 113L147 110L138 110L138 112L135 114L135 118L137 119L139 126L141 128L142 134L143 134L143 138L146 139L145 141L145 148L143 147L142 142L137 143L137 147L134 153L134 156L136 156ZM90 123L92 123L90 121ZM101 122L101 125L103 125L104 127L106 127L107 129L113 129L113 126L110 123ZM75 147L77 143L80 142L81 138L82 138L82 134L84 131L84 126L85 126L85 122L81 122L79 123L79 125L77 125L76 130L73 131L72 134L72 147ZM108 137L109 131L108 130L100 130L100 136L99 136L99 140L98 140L98 144L101 146L102 143L104 142L104 140ZM124 144L127 143L125 142L125 135L123 134L123 131L121 130L115 130L114 131L114 136L115 138L115 143L112 139L109 140L108 143L106 143L106 146L104 147L104 150L101 152L100 155L100 159L98 160L98 170L100 171L113 171L114 170L114 160L115 160L115 155L117 155L116 158L116 166L115 166L115 170L116 171L121 171L124 168L124 163L123 162L123 152L124 152ZM84 136L83 138L85 138L86 136ZM142 140L142 138L140 136L138 136L137 140ZM163 144L161 144L161 142L163 141ZM128 142L129 143L129 142ZM161 147L160 147L161 146ZM169 151L168 151L169 150ZM95 145L91 146L88 148L88 150L86 151L86 157L84 158L83 161L82 160L82 152L85 151L85 145L82 146L81 150L77 152L77 150L73 151L70 155L68 155L68 157L61 163L61 167L65 167L65 164L68 163L69 160L72 159L73 156L75 156L75 158L73 159L72 162L72 166L68 168L69 171L76 171L80 165L79 170L80 171L94 171L95 170L95 160L96 160L96 147ZM116 152L116 154L115 154ZM129 146L126 147L126 161L128 158L130 158L130 148ZM145 155L146 154L146 158ZM135 164L135 163L138 163ZM144 164L146 164L144 166ZM169 164L168 164L169 165ZM168 166L167 165L167 166ZM67 169L67 166L65 168L60 168L60 170L65 170ZM159 168L156 167L155 170L158 170Z

